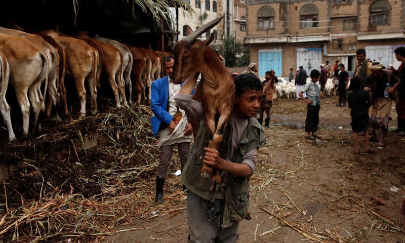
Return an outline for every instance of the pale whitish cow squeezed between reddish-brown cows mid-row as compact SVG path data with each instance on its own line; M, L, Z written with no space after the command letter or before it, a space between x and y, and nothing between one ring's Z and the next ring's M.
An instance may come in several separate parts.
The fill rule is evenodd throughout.
M132 70L132 63L134 61L134 58L132 56L131 51L128 49L128 47L126 45L119 43L117 41L114 41L112 39L103 38L103 37L98 36L97 34L94 36L94 38L97 39L97 41L105 42L105 43L113 45L123 55L123 78L125 81L125 85L128 86L128 89L129 89L129 100L128 101L130 104L132 104L131 70ZM125 97L125 87L124 86L121 86L119 100L122 101L124 105L127 105L127 99Z

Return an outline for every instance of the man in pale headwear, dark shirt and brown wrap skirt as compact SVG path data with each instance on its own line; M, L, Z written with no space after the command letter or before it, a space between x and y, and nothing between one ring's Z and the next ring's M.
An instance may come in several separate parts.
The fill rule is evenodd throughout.
M378 146L385 145L385 135L388 132L388 121L391 112L392 100L397 101L396 88L400 80L391 70L382 69L383 64L373 62L369 64L371 74L366 77L365 90L370 91L373 102L370 120L373 125L370 141L379 141ZM388 85L388 97L384 96L384 91ZM381 138L377 140L376 129L381 131Z

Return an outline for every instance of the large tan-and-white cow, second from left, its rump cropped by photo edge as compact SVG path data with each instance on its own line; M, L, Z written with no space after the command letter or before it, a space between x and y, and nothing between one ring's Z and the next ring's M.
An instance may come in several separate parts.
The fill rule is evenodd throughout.
M35 127L40 129L39 113L45 108L45 99L40 99L39 87L45 80L48 88L49 61L41 50L24 37L0 34L0 51L10 65L10 84L14 87L23 117L23 136L28 135L29 112L35 113Z

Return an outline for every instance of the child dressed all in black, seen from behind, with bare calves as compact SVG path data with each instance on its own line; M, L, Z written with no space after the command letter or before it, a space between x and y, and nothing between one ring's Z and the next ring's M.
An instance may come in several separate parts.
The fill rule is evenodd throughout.
M370 149L369 143L369 123L370 117L367 110L372 105L369 92L360 89L362 83L361 76L354 76L350 80L350 86L354 89L353 92L347 97L349 108L351 108L351 127L353 130L354 153L358 153L357 135L364 133L366 141L366 153L373 153L374 150Z

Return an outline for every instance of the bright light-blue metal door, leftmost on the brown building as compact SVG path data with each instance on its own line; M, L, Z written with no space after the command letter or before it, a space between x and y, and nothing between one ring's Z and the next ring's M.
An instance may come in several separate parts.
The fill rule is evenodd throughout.
M281 49L259 50L259 77L266 71L274 70L275 75L282 77Z

